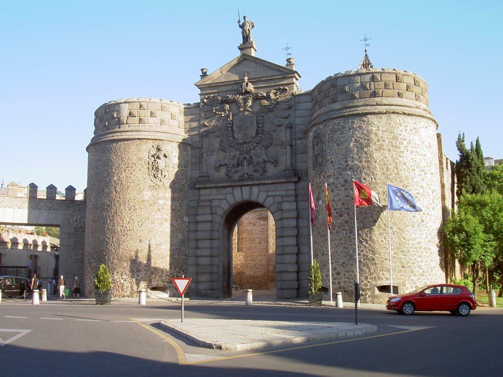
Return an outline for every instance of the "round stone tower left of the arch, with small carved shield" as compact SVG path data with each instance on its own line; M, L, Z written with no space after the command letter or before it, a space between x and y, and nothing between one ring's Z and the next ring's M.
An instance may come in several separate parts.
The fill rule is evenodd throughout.
M189 143L182 104L122 99L95 112L87 151L85 295L105 263L113 296L172 289L186 272Z

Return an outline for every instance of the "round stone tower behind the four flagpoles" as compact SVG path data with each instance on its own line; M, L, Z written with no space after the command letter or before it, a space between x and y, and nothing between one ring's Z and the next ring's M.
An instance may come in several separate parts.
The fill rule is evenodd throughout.
M333 214L333 292L342 291L346 301L353 301L357 277L353 179L375 191L384 205L356 209L362 302L383 303L389 296L387 183L410 192L423 209L390 213L394 290L445 281L437 123L427 89L414 73L371 68L327 77L312 90L309 181L321 224L313 230L314 256L328 288L326 212L324 200L320 203L326 182Z

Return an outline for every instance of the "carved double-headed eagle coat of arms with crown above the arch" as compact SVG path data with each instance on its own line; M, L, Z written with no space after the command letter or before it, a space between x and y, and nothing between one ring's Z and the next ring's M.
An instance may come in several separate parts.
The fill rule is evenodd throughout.
M276 166L278 159L268 156L273 145L273 133L289 117L291 96L288 88L279 87L267 92L255 91L247 77L237 95L208 96L201 102L205 119L203 137L213 134L218 139L218 158L213 168L226 168L227 178L249 179L263 176L268 165ZM285 148L283 142L278 146Z

